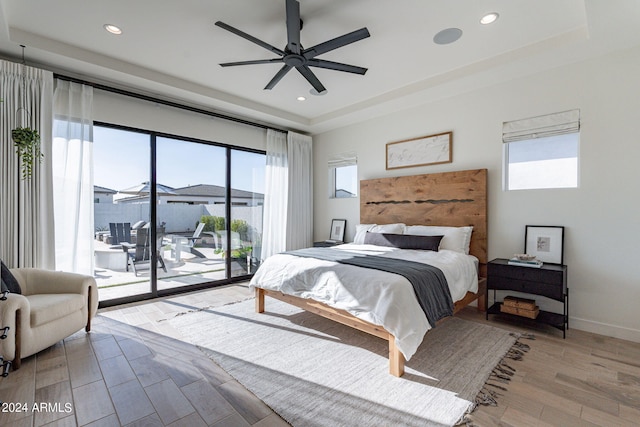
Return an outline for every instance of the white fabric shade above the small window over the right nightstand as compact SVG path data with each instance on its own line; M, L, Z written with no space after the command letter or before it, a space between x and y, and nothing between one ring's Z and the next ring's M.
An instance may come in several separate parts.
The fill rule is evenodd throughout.
M580 131L580 110L513 120L502 124L502 142L546 138Z

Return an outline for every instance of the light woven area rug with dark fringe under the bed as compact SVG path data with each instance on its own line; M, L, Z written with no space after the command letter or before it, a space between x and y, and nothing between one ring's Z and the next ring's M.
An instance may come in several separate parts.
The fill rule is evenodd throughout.
M386 341L267 298L170 320L293 426L452 426L475 406L518 336L455 317L388 373ZM502 376L502 375L500 375Z

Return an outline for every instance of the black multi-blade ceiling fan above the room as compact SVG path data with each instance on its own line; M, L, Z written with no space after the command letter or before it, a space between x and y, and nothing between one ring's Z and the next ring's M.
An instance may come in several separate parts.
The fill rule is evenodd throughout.
M300 19L300 3L296 0L286 0L287 13L287 46L284 49L278 49L269 43L263 42L231 25L218 21L215 23L220 28L232 32L244 39L249 40L277 55L279 58L257 59L252 61L225 62L220 64L222 67L233 67L236 65L254 65L254 64L272 64L282 62L284 65L265 86L265 89L273 89L273 87L289 72L292 68L298 70L302 76L313 86L318 92L322 93L327 89L320 83L320 80L311 71L309 67L326 68L329 70L344 71L347 73L361 74L367 72L366 68L357 67L355 65L343 64L340 62L327 61L317 59L316 56L323 53L338 49L339 47L357 42L369 37L369 30L361 28L348 34L344 34L335 39L331 39L324 43L317 44L308 49L304 49L300 44L300 30L302 29L302 20Z

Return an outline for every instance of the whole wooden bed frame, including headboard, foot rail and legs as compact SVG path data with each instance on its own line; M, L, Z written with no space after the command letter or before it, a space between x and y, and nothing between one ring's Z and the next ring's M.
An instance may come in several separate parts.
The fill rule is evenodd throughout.
M360 181L360 223L473 226L469 253L479 260L478 292L467 292L463 299L456 301L454 313L475 300L478 310L486 310L486 169ZM262 288L256 288L255 294L258 313L264 312L268 295L389 341L389 373L396 377L404 373L404 356L395 345L395 337L382 326L315 300Z

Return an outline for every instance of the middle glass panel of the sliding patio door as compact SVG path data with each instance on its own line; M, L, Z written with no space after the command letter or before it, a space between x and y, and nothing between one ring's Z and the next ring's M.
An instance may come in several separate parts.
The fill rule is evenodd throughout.
M226 148L173 138L156 140L160 256L168 274L158 289L227 278Z

